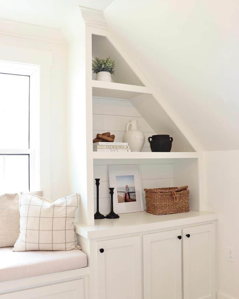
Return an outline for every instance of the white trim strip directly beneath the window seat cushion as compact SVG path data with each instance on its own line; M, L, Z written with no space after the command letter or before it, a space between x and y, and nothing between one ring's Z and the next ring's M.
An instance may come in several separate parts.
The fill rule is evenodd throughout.
M88 275L89 268L80 268L40 276L26 277L22 279L0 282L0 294L15 292L23 289L30 289L39 286L47 286L53 283L79 279L81 276Z

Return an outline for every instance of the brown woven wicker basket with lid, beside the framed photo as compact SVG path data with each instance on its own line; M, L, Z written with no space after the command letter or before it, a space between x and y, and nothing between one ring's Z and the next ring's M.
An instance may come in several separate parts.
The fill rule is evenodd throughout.
M189 212L188 186L144 189L146 212L165 215Z

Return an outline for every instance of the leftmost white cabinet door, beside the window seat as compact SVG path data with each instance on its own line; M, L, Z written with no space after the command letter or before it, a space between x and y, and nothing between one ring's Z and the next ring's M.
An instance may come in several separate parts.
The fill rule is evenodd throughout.
M97 242L98 299L141 299L141 238Z

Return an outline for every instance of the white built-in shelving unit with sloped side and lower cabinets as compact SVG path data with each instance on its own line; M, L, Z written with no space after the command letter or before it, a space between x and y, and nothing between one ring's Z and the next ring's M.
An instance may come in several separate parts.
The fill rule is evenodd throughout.
M80 193L75 231L90 266L88 297L114 297L118 286L117 298L161 298L165 294L167 298L175 294L180 298L185 294L187 298L215 297L217 213L205 208L200 146L190 128L183 125L135 65L134 57L128 56L107 29L103 12L84 7L80 10L85 25L69 28L69 36L75 36L69 44L66 102L68 191ZM95 80L94 57L115 60L113 82ZM97 133L110 132L115 142L122 142L129 120L137 120L138 129L145 135L141 152L93 152L92 139ZM173 137L171 152L151 152L148 138L155 134ZM119 219L94 219L96 178L100 179L99 211L104 215L110 212L109 187L117 191L117 186L110 185L112 165L120 165L122 172L137 165L135 189L142 190L143 205L137 212L128 209L128 213L119 213L115 205ZM153 215L145 211L145 189L185 185L190 190L188 213ZM191 285L196 286L192 294Z

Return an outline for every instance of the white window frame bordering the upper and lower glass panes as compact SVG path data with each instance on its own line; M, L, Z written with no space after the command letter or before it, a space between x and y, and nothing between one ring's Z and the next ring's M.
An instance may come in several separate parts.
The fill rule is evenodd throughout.
M0 155L29 155L29 189L40 190L40 66L0 61L0 73L30 77L29 148L0 149Z

